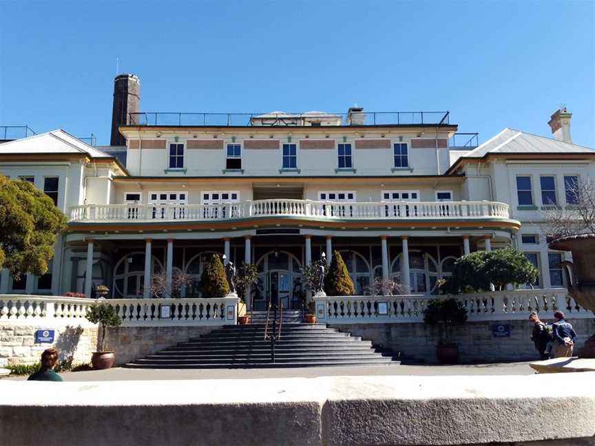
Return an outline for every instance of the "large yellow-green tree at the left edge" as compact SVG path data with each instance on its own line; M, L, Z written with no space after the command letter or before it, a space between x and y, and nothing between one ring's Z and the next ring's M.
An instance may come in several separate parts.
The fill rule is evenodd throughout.
M66 217L30 182L0 177L0 269L13 277L43 275Z

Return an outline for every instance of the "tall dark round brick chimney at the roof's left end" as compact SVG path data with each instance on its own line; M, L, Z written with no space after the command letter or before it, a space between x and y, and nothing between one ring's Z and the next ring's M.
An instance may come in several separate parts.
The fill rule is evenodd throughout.
M114 78L114 108L112 109L112 138L109 145L126 145L118 127L128 124L128 114L140 111L140 79L134 74L119 74ZM138 123L132 117L131 124Z

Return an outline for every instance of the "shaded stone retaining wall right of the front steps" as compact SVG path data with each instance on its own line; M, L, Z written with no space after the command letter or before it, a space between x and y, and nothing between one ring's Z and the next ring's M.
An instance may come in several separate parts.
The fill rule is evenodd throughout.
M576 349L595 332L595 319L568 319L578 334ZM494 324L509 324L510 337L494 337ZM436 363L439 329L425 323L351 323L329 326L348 331L353 336L370 339L375 344L401 354L401 360ZM533 326L528 321L467 322L452 330L452 341L459 344L461 363L532 361L539 359L530 341Z

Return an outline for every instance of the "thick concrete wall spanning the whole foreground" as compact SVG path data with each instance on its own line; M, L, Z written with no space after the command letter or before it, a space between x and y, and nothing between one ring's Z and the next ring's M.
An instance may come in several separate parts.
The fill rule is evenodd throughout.
M595 445L594 380L595 372L572 379L552 374L0 381L0 443L10 438L11 446Z

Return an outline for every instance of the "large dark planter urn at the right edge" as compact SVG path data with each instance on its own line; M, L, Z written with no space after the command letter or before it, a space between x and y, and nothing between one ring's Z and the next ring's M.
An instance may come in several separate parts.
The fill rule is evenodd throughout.
M568 293L578 305L595 312L595 234L562 237L549 246L572 253L574 283L567 281ZM578 350L578 357L595 358L595 334L585 341L585 347Z

